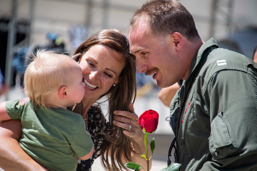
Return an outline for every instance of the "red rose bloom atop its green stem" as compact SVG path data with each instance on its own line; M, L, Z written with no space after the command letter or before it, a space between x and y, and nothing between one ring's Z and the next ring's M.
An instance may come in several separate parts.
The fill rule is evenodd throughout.
M152 133L157 129L159 121L159 114L154 110L146 110L138 118L138 123L145 132Z

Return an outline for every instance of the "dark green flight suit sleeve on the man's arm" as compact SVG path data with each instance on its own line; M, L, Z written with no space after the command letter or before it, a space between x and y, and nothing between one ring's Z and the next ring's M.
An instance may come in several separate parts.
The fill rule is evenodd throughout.
M209 109L212 162L201 170L254 170L257 167L256 75L238 70L215 73L204 94Z

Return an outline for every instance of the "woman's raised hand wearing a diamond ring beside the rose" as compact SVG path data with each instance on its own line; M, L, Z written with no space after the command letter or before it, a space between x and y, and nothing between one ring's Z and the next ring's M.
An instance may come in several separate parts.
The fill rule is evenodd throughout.
M130 112L122 110L114 111L116 116L114 116L115 120L113 121L113 124L124 128L125 130L123 133L137 141L136 139L142 139L142 137L144 137L144 133L138 125L138 116L134 112L132 103L129 105L129 111ZM127 130L129 125L131 125L131 128Z

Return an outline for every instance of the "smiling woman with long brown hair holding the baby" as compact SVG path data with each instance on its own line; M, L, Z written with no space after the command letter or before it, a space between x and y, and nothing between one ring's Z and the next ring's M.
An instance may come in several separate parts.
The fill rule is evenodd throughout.
M116 29L105 29L90 36L74 54L73 59L82 69L85 94L81 103L69 110L82 115L95 146L90 159L78 159L77 170L91 170L99 156L106 170L128 170L124 164L131 161L147 167L141 158L145 151L144 133L132 104L136 96L136 61L127 37ZM95 103L102 97L108 102L107 118L100 104ZM0 167L44 170L19 146L20 121L8 120L0 126Z

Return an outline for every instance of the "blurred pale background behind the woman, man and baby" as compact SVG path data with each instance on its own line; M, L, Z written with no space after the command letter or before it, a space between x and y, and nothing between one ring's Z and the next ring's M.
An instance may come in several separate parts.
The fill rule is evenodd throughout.
M136 8L145 0L0 0L0 100L24 97L23 74L27 53L48 48L72 55L93 33L116 28L127 34ZM193 15L203 41L214 37L220 47L252 59L257 45L256 0L181 0ZM159 88L151 76L137 73L138 93L134 105L140 115L153 109L160 114L155 134L152 170L166 166L173 132L169 108L158 98ZM103 107L104 108L104 107ZM97 161L96 161L97 162ZM99 164L94 164L101 170ZM159 168L158 168L159 167Z

